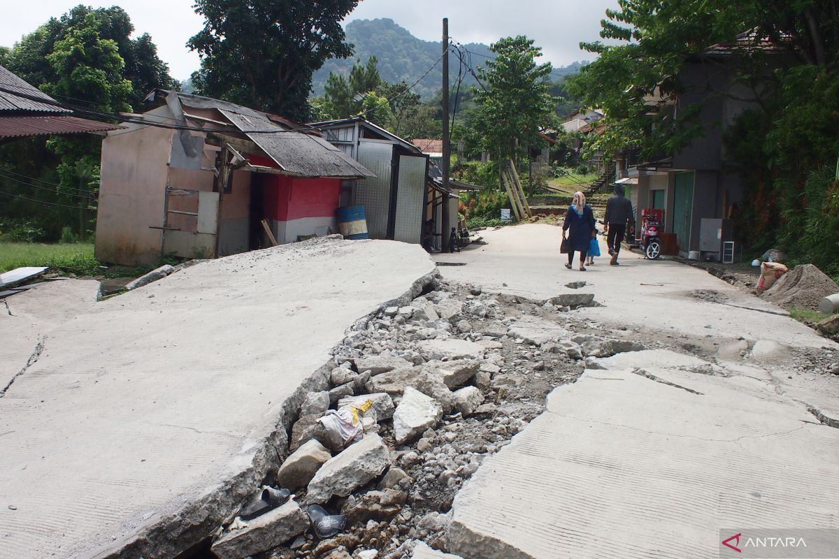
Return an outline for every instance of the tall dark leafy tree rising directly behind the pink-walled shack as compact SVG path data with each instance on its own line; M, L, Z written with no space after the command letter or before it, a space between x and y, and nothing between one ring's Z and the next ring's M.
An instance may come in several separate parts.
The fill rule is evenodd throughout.
M201 54L201 95L305 121L312 72L347 58L341 20L356 0L196 0L204 28L187 43Z

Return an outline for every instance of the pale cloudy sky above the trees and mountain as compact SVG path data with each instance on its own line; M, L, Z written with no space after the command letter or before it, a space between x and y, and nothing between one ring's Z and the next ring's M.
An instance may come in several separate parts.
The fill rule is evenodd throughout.
M77 3L122 6L135 33L152 36L173 77L183 80L198 68L198 55L185 47L202 23L191 8L192 0L36 0L0 19L0 44L11 46ZM617 4L617 0L362 0L347 21L391 18L420 39L440 40L440 21L447 17L451 37L461 43L489 44L499 37L525 34L544 49L546 60L561 66L591 59L578 44L597 39L605 10Z

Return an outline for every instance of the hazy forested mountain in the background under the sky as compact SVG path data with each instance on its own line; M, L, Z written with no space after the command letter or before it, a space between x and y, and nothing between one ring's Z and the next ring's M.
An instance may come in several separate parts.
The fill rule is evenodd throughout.
M349 75L352 65L357 60L367 61L371 56L378 59L378 71L382 79L389 83L405 80L413 84L421 75L425 74L431 65L440 58L440 43L417 39L405 28L399 27L393 19L356 19L347 23L347 42L355 45L355 55L346 60L327 60L323 67L312 76L312 95L323 95L323 87L330 72ZM470 43L461 45L464 64L474 70L483 65L487 58L493 56L486 44ZM555 68L553 76L560 80L564 75L576 74L581 65L586 62L575 62L572 65ZM461 90L477 81L464 67L461 70L461 60L454 54L449 56L449 80L451 87L457 86L459 72L462 72L463 85ZM437 65L428 75L415 86L415 91L423 99L429 99L440 91L441 65Z

